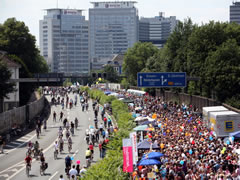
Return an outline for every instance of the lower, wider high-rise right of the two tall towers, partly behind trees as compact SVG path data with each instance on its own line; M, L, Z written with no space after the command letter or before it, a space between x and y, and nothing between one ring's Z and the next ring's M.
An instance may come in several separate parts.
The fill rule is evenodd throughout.
M164 17L162 12L153 18L139 20L139 41L152 42L161 48L177 25L176 16Z

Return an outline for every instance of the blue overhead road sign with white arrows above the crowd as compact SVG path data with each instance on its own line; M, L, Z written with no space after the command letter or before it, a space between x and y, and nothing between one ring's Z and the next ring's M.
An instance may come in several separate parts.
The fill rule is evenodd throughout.
M138 73L138 87L186 87L185 72Z

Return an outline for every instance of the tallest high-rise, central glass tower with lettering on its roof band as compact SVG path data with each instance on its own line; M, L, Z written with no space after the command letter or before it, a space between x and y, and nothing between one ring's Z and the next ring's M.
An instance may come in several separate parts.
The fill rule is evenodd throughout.
M89 55L92 62L126 52L138 41L134 1L92 2L89 9Z

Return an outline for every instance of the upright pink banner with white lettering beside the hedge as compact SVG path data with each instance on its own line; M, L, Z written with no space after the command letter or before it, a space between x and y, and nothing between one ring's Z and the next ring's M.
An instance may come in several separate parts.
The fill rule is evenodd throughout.
M133 172L133 154L130 139L123 139L123 171Z

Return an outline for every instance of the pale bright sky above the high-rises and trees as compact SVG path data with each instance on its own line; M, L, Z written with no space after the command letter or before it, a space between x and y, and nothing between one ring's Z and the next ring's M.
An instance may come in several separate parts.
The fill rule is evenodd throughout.
M98 0L102 2L103 0ZM106 0L111 1L111 0ZM139 17L158 16L164 12L165 17L176 16L183 21L191 18L201 25L211 20L229 21L229 6L235 0L135 0ZM88 9L93 5L89 0L0 0L0 23L15 17L28 26L30 33L39 41L39 20L46 14L44 9L70 8L85 10L83 14L88 19Z

